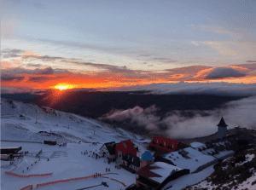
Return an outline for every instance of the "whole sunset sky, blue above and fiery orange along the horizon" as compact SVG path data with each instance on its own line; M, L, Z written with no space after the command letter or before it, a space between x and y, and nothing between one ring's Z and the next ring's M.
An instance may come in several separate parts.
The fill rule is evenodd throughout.
M1 89L255 83L255 0L0 0Z

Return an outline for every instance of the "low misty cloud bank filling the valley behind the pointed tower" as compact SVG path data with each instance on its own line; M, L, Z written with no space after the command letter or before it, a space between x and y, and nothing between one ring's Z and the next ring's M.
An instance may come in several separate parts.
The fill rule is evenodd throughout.
M155 106L147 109L134 107L127 110L114 110L102 116L101 120L110 120L137 124L137 127L145 128L149 133L167 135L170 138L195 138L212 135L218 131L217 124L223 116L228 128L237 125L247 129L256 129L256 96L243 98L239 101L230 101L224 105L225 108L207 111L181 111L173 110L166 113L164 117L157 115Z

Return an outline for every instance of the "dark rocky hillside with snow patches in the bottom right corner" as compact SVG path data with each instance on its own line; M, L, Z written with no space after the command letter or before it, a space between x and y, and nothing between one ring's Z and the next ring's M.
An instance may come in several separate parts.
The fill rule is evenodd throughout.
M256 147L253 147L215 165L215 171L210 176L193 186L183 188L183 190L250 190L255 188Z

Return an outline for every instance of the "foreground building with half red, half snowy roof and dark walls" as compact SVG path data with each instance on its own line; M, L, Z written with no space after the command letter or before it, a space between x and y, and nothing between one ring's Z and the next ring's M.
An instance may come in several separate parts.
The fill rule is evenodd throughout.
M136 186L139 189L160 190L168 182L189 174L189 170L163 162L155 162L141 168L136 174Z

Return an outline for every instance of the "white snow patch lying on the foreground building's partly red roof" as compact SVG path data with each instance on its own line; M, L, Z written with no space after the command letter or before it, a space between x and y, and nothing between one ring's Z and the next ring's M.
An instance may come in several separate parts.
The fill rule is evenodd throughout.
M154 164L150 164L150 166L157 166L160 167L160 169L154 169L151 170L152 172L154 172L155 174L160 175L161 177L149 177L149 179L157 181L159 183L163 182L166 180L166 178L168 176L171 175L172 170L183 170L177 166L171 165L171 164L166 164L163 162L155 162Z

